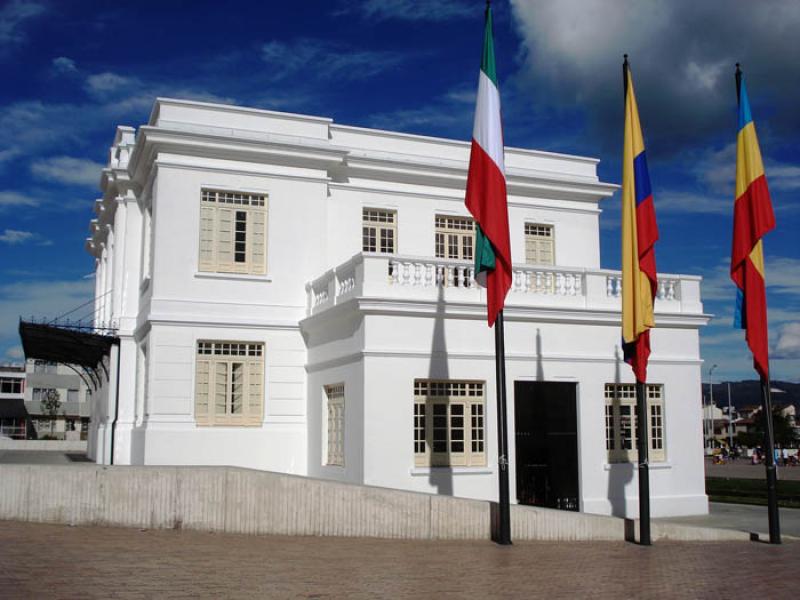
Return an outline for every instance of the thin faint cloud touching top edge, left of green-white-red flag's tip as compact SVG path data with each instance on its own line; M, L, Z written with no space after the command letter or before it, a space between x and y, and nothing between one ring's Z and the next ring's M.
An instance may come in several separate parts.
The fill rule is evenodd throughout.
M365 19L383 21L399 19L404 21L446 21L462 17L480 18L481 6L458 0L437 0L419 2L417 0L362 0L348 2L337 14L358 13Z

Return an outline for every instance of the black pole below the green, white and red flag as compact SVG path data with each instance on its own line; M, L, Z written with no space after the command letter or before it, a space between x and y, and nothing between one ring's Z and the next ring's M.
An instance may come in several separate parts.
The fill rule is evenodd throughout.
M500 486L498 544L511 544L511 506L508 494L508 427L506 416L506 348L503 331L503 311L494 323L494 351L497 369L497 481Z

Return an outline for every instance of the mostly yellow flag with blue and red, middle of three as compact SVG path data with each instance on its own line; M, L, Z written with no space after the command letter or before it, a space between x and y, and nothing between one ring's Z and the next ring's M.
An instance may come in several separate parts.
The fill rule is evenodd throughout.
M636 380L647 380L650 328L655 326L658 240L656 210L633 77L626 59L625 144L622 155L622 349Z

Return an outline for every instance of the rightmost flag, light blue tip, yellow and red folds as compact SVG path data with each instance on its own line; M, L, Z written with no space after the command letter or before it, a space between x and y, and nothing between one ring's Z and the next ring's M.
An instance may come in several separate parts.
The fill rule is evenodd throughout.
M753 366L762 378L769 375L767 346L767 289L761 238L775 228L764 164L747 89L737 67L739 134L736 139L736 200L733 208L731 279L736 291L733 325L747 331Z

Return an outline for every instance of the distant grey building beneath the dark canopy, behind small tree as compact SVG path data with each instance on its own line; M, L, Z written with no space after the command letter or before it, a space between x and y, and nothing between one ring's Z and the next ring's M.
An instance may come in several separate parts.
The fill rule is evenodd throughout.
M78 373L66 365L42 360L25 363L25 407L38 439L85 440L91 416L91 391ZM42 406L50 390L60 406L54 415Z

